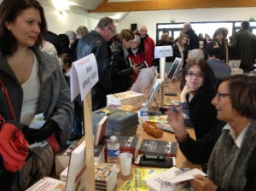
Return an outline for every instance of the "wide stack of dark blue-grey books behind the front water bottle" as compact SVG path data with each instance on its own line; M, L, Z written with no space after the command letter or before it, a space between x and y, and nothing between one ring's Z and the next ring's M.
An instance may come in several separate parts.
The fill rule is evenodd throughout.
M108 116L104 136L131 136L137 132L137 113L124 111L113 107L105 107L93 112L93 134L96 136L97 124Z

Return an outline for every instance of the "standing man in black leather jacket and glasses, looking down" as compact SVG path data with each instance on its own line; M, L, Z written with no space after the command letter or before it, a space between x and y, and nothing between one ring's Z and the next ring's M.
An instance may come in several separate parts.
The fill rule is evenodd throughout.
M99 81L91 89L92 110L95 111L107 105L107 95L112 86L110 78L110 63L108 55L108 41L116 33L113 20L104 17L89 34L80 38L77 47L77 58L83 58L93 53L96 56Z

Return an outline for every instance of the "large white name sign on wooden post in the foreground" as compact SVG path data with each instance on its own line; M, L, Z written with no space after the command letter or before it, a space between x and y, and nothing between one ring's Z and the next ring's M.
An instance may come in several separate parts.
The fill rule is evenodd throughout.
M95 55L90 54L82 59L79 59L79 61L73 62L70 76L71 101L73 101L76 96L79 96L79 93L81 100L84 100L84 122L86 121L86 128L84 123L86 166L88 175L90 175L86 176L88 182L88 190L95 190L95 171L93 159L94 142L90 89L97 83L98 80L99 77Z

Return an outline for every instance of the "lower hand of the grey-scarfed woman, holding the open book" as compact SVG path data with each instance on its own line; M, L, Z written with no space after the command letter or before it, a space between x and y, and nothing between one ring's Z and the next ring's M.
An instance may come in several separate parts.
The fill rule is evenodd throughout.
M195 191L216 191L217 186L210 181L207 177L203 177L201 175L194 175L195 179L189 181L192 188Z

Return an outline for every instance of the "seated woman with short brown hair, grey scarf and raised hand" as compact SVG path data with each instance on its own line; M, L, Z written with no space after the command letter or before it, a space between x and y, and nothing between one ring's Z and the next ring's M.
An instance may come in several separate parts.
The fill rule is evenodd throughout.
M220 136L212 134L212 140L191 139L183 128L181 109L177 113L168 110L167 120L175 130L179 146L183 145L182 152L189 149L183 152L185 156L211 152L208 177L194 175L195 179L190 181L195 191L256 190L255 94L256 76L241 74L218 81L212 104L217 118L226 124L219 129Z

